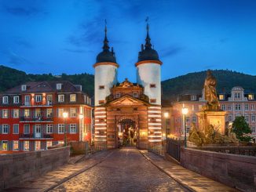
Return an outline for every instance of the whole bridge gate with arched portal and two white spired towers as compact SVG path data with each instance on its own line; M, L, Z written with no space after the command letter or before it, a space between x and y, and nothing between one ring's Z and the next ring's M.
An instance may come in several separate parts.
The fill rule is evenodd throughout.
M162 144L161 64L152 49L148 34L141 45L137 83L126 79L117 83L114 50L109 51L107 28L103 51L98 54L95 68L95 136L96 146L116 148L119 143L147 149Z

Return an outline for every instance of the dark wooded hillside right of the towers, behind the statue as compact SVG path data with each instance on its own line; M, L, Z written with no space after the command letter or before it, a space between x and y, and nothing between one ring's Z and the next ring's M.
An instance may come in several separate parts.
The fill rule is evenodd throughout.
M230 92L234 86L241 86L248 92L256 92L256 76L229 70L214 70L212 72L218 81L218 92ZM164 99L188 92L202 92L206 76L207 71L200 71L163 81Z

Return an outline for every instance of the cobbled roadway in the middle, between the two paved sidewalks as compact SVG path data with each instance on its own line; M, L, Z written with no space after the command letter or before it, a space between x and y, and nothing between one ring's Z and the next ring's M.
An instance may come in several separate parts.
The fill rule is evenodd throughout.
M100 164L51 191L187 191L136 148L115 150Z

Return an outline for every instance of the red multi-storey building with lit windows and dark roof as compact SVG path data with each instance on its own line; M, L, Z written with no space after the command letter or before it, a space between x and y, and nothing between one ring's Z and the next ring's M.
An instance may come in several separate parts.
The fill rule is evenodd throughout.
M2 93L0 102L0 150L46 150L65 136L90 141L92 107L81 85L27 82Z

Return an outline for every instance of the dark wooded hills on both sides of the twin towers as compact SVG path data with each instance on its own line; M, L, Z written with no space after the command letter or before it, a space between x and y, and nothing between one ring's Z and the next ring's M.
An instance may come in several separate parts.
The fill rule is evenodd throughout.
M228 70L215 70L213 74L218 80L218 92L230 92L230 89L234 86L242 86L247 91L256 92L256 76ZM163 81L163 99L174 99L179 94L189 92L202 92L205 77L206 71L201 71ZM53 74L26 74L24 71L0 66L0 92L24 82L57 80L68 80L74 84L82 85L82 90L93 96L93 74L61 74L59 76Z

